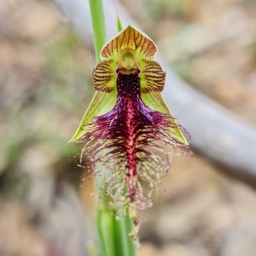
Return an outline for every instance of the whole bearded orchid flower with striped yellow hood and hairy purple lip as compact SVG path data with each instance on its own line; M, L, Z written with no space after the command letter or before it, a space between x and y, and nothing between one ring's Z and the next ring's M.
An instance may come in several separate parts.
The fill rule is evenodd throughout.
M130 205L134 222L134 209L150 207L158 195L172 155L191 154L161 96L165 72L153 60L156 53L156 44L132 26L104 45L93 71L97 92L70 140L84 144L80 162L86 159L87 173L98 164L109 205Z

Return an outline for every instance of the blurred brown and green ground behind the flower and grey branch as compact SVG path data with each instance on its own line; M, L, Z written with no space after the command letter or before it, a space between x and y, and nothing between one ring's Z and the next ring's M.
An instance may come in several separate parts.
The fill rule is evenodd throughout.
M255 0L120 3L182 79L256 124ZM87 255L96 239L95 188L80 188L81 147L67 143L95 65L92 38L54 1L1 0L1 256ZM139 256L256 255L255 188L196 152L173 157L163 187L168 196L140 212Z

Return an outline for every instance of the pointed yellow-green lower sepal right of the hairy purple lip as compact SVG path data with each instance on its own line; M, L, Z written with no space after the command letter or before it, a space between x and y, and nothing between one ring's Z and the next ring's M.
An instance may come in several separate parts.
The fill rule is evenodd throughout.
M159 111L161 113L166 113L166 114L172 115L172 113L170 112L170 109L168 108L168 106L166 106L161 93L159 93L159 92L152 92L152 93L147 93L147 94L142 93L141 98L142 98L144 104L146 106L148 106L148 108ZM175 122L175 119L172 119L172 122L174 124L177 124ZM180 131L178 125L177 125L177 128L170 129L170 132L172 132L173 135L175 135L175 138L177 140L184 143L185 145L188 145L188 141L186 140L186 138Z

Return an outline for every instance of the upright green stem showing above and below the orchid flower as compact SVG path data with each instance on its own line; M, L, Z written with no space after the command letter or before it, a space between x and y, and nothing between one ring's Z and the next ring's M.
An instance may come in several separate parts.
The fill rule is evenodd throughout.
M107 34L102 0L89 0L92 15L93 35L97 61L100 61L100 51L106 43ZM118 30L122 29L118 17ZM96 178L97 179L97 178ZM97 180L99 189L100 180ZM107 210L97 213L97 229L100 238L101 256L135 256L135 246L129 237L132 222L129 216L116 220L115 214Z

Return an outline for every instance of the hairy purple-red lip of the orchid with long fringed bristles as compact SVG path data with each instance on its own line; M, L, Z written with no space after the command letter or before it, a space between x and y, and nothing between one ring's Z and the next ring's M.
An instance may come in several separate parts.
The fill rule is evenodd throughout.
M173 136L171 129L177 128L173 116L145 106L138 74L118 74L116 87L115 107L84 127L91 131L79 140L85 143L81 161L90 156L91 170L100 163L101 175L113 169L106 179L113 202L145 209L157 196L155 185L168 172L171 155L188 154L189 148ZM128 193L122 197L125 186Z

